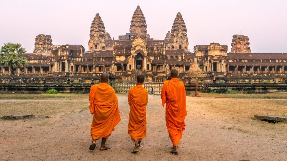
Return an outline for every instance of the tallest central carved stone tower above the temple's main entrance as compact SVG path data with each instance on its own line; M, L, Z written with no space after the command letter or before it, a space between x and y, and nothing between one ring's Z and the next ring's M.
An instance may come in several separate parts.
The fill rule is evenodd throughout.
M146 20L143 16L143 12L139 6L136 7L136 11L131 18L130 33L132 37L141 35L142 38L146 38Z

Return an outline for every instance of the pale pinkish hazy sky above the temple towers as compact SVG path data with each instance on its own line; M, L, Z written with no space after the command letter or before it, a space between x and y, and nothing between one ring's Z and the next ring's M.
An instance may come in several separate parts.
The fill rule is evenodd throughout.
M1 0L0 45L21 43L31 53L36 35L49 34L54 45L83 45L99 13L111 37L129 33L140 5L150 38L163 40L177 12L186 23L189 49L220 43L231 49L232 35L247 35L253 53L287 52L287 1L284 0Z

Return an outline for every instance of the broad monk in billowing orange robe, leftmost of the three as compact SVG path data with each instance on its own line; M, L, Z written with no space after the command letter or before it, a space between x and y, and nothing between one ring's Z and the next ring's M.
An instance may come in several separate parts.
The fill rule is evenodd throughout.
M90 111L94 115L91 124L92 144L90 150L96 147L96 140L102 139L100 150L107 150L106 140L121 121L118 99L115 90L108 84L109 75L101 74L101 83L93 85L89 94Z

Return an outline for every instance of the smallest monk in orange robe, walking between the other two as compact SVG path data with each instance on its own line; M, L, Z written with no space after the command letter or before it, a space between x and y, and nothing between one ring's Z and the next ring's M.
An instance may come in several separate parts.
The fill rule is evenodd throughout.
M144 76L136 77L137 86L131 87L128 95L130 105L128 133L135 146L131 152L138 152L143 148L141 140L146 136L146 104L148 103L148 91L143 88Z

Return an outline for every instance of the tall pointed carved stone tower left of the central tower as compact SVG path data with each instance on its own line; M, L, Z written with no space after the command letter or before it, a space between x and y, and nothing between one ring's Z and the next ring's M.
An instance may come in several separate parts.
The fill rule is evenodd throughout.
M96 14L90 29L89 51L106 50L106 30L99 13Z

